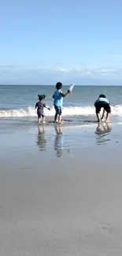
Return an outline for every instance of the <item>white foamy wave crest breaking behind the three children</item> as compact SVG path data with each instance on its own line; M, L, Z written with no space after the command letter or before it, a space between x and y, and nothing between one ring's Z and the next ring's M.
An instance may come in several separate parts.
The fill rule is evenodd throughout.
M94 106L69 106L63 107L63 116L94 116ZM54 107L51 110L45 109L46 117L54 116ZM122 116L122 105L112 106L112 114ZM0 110L0 117L36 117L35 107L28 106L21 109L2 109Z

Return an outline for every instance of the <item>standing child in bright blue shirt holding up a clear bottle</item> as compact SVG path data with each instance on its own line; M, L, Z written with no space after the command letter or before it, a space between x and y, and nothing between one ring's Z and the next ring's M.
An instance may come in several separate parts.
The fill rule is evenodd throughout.
M58 124L61 123L61 113L62 113L62 106L63 106L63 98L65 98L66 95L71 93L71 91L67 91L65 95L61 91L62 83L58 82L56 84L56 91L54 92L53 98L54 98L54 109L55 109L55 116L54 116L54 122L57 121L58 117Z

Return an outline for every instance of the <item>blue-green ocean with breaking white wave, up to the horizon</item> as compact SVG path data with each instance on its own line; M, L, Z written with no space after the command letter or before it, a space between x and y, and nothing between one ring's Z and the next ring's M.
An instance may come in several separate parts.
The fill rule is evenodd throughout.
M65 93L68 86L64 86ZM46 95L46 117L54 116L53 98L55 86L0 85L1 120L36 121L35 102L38 95ZM96 121L94 102L98 95L104 94L112 106L112 121L122 120L122 87L120 86L75 86L72 94L64 98L63 118L65 121Z

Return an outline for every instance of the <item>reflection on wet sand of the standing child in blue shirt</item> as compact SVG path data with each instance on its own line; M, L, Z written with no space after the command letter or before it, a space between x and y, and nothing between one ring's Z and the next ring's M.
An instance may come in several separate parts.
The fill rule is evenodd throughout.
M59 126L55 125L54 128L56 131L56 137L54 140L54 150L56 150L57 152L57 158L61 158L62 150L64 149L63 148L64 139L62 135L62 128L60 125Z

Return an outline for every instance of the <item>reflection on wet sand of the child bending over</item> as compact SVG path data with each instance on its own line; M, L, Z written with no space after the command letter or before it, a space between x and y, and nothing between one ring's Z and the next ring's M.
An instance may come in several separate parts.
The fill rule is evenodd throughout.
M112 126L110 123L105 123L105 124L98 123L98 127L96 128L96 132L95 132L95 134L98 135L98 138L96 138L97 139L96 143L102 144L109 141L110 139L106 139L106 135L109 135L111 130L112 130Z

